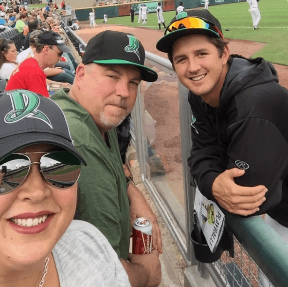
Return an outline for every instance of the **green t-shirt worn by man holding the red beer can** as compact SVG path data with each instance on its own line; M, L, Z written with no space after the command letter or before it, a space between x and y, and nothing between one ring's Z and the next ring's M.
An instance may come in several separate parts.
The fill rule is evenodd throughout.
M109 131L109 147L91 115L61 89L51 98L64 111L75 148L87 162L78 180L81 214L108 239L121 258L127 258L130 237L126 176L120 157L116 131Z

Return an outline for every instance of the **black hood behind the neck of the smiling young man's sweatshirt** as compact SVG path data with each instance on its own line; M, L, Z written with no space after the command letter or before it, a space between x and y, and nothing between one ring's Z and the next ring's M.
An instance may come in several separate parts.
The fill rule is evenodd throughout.
M227 107L230 99L241 90L270 81L279 82L274 66L263 58L247 59L239 55L231 57L232 63L220 93L219 110Z

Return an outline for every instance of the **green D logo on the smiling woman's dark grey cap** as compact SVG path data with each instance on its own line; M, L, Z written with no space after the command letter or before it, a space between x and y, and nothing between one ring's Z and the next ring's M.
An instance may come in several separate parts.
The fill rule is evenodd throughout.
M8 95L10 96L13 110L5 115L5 123L12 124L23 118L33 117L42 120L53 129L49 118L42 112L36 110L40 101L36 94L25 90L19 90L17 92L9 93Z

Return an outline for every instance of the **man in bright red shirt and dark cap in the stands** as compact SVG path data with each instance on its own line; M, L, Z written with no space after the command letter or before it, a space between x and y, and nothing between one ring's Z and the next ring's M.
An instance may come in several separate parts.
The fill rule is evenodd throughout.
M12 73L6 91L24 89L49 97L44 69L53 68L61 59L63 52L70 53L61 38L53 31L45 31L38 35L38 44L34 57L24 60Z

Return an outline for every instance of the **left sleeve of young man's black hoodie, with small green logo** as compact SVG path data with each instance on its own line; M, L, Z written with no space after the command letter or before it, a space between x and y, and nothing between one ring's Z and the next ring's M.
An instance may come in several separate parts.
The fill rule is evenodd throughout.
M224 148L218 143L216 130L211 118L205 111L205 105L191 96L188 97L193 113L191 122L192 149L188 158L190 173L196 179L201 193L208 199L212 195L215 178L225 170Z

